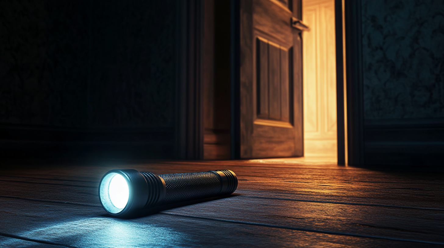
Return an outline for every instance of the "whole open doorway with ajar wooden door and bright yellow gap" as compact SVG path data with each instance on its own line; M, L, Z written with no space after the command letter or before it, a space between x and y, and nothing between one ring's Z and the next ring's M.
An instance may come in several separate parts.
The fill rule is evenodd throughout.
M334 0L235 3L205 2L202 158L336 160Z

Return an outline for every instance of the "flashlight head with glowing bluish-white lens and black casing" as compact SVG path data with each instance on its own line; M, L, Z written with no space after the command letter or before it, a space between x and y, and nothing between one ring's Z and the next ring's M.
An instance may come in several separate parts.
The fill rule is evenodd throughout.
M111 170L99 184L99 199L107 213L125 216L147 203L147 181L136 170Z

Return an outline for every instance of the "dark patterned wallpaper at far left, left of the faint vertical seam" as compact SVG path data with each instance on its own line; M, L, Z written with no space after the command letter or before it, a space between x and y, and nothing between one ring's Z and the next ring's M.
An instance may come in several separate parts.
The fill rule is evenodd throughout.
M0 123L86 125L85 1L0 1Z

